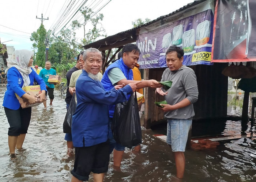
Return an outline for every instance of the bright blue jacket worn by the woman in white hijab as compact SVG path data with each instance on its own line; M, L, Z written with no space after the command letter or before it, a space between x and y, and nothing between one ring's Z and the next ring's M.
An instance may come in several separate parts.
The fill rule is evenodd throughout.
M34 79L40 85L41 90L46 90L44 80L32 69L29 74L30 85L33 85ZM20 107L19 100L17 99L15 93L20 97L26 92L22 90L23 78L20 72L15 68L11 67L7 72L7 91L4 94L3 106L12 110L18 110Z

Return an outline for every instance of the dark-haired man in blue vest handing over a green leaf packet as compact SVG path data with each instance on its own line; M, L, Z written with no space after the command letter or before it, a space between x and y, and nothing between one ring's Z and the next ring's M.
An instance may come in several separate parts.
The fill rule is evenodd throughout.
M138 82L133 80L132 69L136 66L139 56L140 50L135 44L126 44L123 47L121 58L110 64L103 74L101 83L106 91L111 90L115 85L123 83L127 85L129 83ZM137 89L144 87L159 88L162 87L162 85L157 82L157 80L143 80L142 83L137 85ZM109 106L110 126L112 124L115 106L116 105ZM112 133L109 133L109 136L110 147L112 147L110 153L114 150L114 166L120 167L125 147L114 141Z

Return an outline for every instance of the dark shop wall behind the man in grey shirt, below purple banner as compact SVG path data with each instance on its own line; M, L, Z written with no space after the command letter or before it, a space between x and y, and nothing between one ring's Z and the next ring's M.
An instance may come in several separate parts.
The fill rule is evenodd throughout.
M214 63L213 66L196 65L191 66L197 77L199 98L194 104L196 119L223 118L227 116L227 77L221 71L228 63ZM144 79L155 79L160 81L166 68L144 69ZM144 88L145 112L144 127L147 129L151 124L164 120L161 110L154 104L165 100L163 96L155 94L155 89Z

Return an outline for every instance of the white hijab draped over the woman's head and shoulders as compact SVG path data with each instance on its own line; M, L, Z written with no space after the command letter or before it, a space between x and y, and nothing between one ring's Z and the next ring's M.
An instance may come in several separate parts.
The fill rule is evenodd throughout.
M11 67L15 67L20 74L22 75L24 84L22 87L28 86L30 84L29 74L32 72L31 67L28 66L31 56L34 55L33 51L29 50L16 50L14 54L12 54L11 59L8 62L8 67L5 70L5 74L7 74L8 70Z

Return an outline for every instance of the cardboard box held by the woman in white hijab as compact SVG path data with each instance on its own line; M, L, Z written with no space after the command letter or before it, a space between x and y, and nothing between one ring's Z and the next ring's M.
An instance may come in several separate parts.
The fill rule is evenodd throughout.
M39 104L41 104L42 102L44 102L45 100L47 100L46 96L44 98L44 100L42 102L40 102L40 98L37 97L39 94L41 94L41 89L39 85L33 85L33 86L26 86L23 87L22 90L24 90L27 94L34 96L35 99L37 100L37 102L35 102L34 104L30 104L29 100L25 99L25 98L20 98L17 94L16 97L19 100L20 106L22 108L27 108L27 107L31 107L31 106L38 106Z

